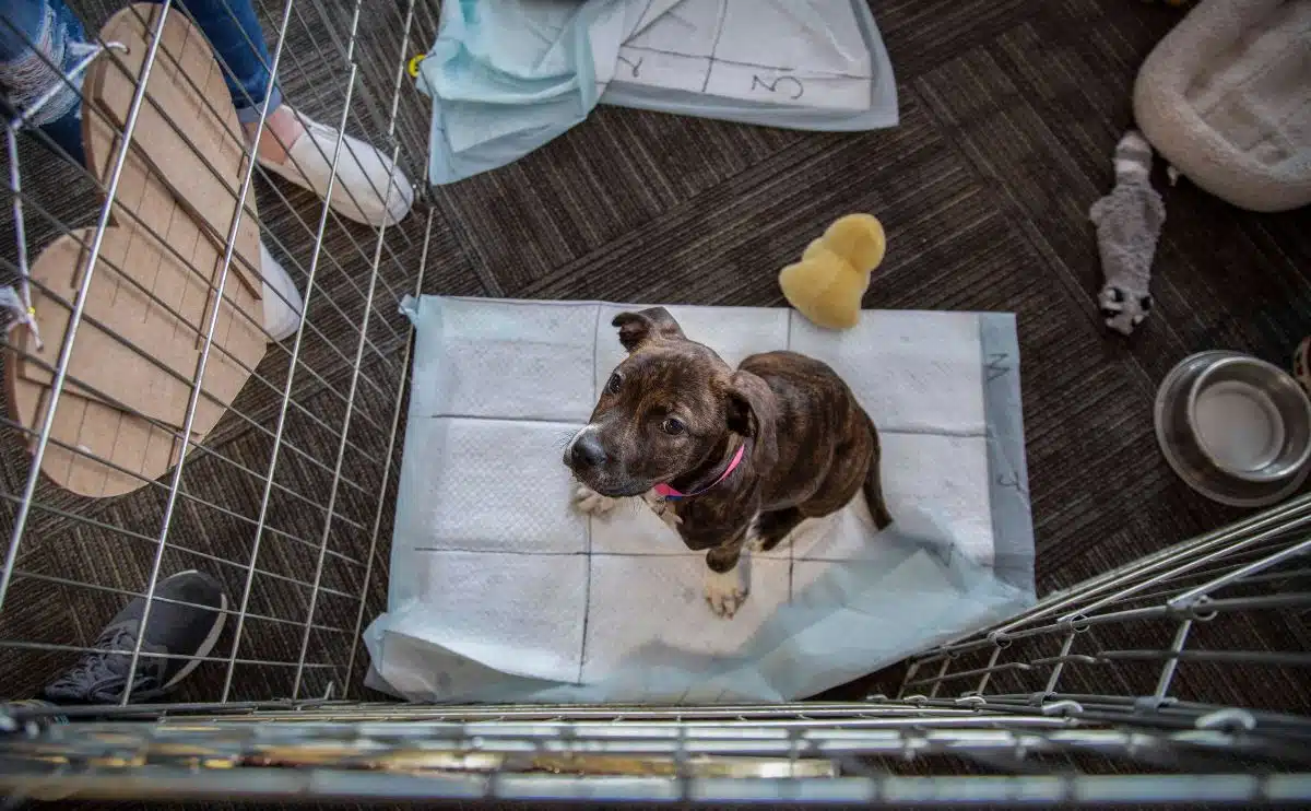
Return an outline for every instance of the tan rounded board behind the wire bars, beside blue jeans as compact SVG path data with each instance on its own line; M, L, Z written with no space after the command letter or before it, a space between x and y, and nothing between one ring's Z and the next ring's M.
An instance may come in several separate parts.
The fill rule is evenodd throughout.
M108 186L122 150L121 126L161 9L127 7L101 30L126 50L88 68L83 140L89 171ZM219 100L219 101L215 101ZM223 73L187 17L170 13L87 289L68 377L42 472L84 496L146 486L178 458L205 335L218 306L212 349L191 438L201 441L264 357L262 282L254 194L233 239L223 301L216 289L223 245L237 211L245 168L241 131ZM31 264L33 308L43 346L16 331L5 364L12 417L34 445L49 409L54 370L87 277L94 228L46 245Z

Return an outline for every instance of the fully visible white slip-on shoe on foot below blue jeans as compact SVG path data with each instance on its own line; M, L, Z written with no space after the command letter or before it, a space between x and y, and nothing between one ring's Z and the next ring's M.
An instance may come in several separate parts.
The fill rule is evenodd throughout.
M286 177L319 197L328 190L332 156L337 148L337 130L292 112L303 127L302 134L286 146L287 160L260 160L267 172ZM269 135L265 134L267 138ZM385 196L385 201L384 201ZM332 209L347 219L366 226L395 226L414 202L409 178L378 147L346 135L337 160L337 185L332 192Z

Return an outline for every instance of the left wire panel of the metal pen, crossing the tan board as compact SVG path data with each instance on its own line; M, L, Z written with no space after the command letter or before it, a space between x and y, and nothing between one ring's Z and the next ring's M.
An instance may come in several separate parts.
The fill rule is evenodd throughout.
M88 24L94 51L71 70L54 64L38 43L28 42L34 58L45 60L41 67L62 85L47 96L64 88L83 92L81 81L93 60L114 60L123 52L122 43L94 38L94 24L115 12L117 5L88 3L75 8ZM395 497L393 462L402 428L409 328L399 314L399 302L422 283L433 213L421 203L399 223L370 227L343 218L328 201L353 193L337 184L338 163L353 150L343 134L374 144L392 159L397 171L389 184L401 182L399 173L405 172L423 186L427 122L405 66L431 41L437 13L431 4L417 1L368 5L254 4L267 38L270 58L265 68L271 85L281 88L298 113L332 122L337 130L333 152L323 155L332 167L328 188L320 198L273 180L262 165L245 160L239 177L224 178L232 181L227 190L236 215L228 232L214 235L224 245L218 273L206 277L199 268L190 269L212 295L223 297L246 262L235 249L240 220L254 218L269 252L300 290L305 318L292 336L269 340L264 358L252 366L215 341L220 310L211 307L205 319L190 324L201 346L191 375L180 375L160 362L152 348L113 335L152 374L170 375L185 386L185 419L177 425L115 400L113 392L69 370L77 341L89 340L79 327L113 333L87 308L96 272L109 268L101 273L132 280L125 268L100 256L108 232L126 219L151 234L170 259L182 264L190 259L182 253L185 247L180 251L170 244L170 232L160 223L146 222L132 207L115 205L119 178L128 156L135 155L128 148L118 150L108 176L101 177L31 126L42 100L7 117L4 161L10 205L5 206L4 224L9 248L0 253L0 281L13 283L16 290L26 287L47 306L69 312L62 344L33 348L31 343L10 340L4 360L10 369L28 365L43 370L51 381L49 406L39 421L25 424L16 419L12 402L0 417L8 440L5 484L0 488L0 514L7 520L0 524L9 530L0 570L0 668L16 675L7 693L33 694L54 663L92 650L96 623L113 615L110 606L132 597L153 597L164 576L191 568L210 572L232 596L225 609L228 640L198 671L194 698L323 696L329 689L343 690L351 669L359 671L354 680L358 689L363 668L359 630L372 614L366 605L367 587L375 583L376 600L382 588L378 584L385 583L385 560L375 566L382 559L378 538L388 531L385 507ZM149 31L163 30L170 14L190 13L186 3L136 5L131 10L142 16ZM8 10L0 24L9 34L25 35ZM174 54L159 47L160 37L147 41L126 125L115 127L128 144L146 118L143 110L159 108L153 92L144 92L148 84L155 87L152 72L166 73L191 89L203 79L181 71ZM215 55L222 62L222 55ZM260 119L248 154L258 151L261 139L278 138L273 129L262 126L270 97L254 105ZM211 109L216 104L212 98L202 101ZM83 100L81 110L85 118L114 126L89 97ZM151 121L159 119L159 109L155 112ZM176 122L165 123L186 138ZM245 143L241 133L223 135ZM219 173L203 148L195 143L190 147ZM258 198L258 214L243 207L248 197ZM88 223L89 230L83 227ZM67 236L85 238L81 248L89 257L80 287L63 298L60 290L31 277L31 265L46 245ZM182 320L182 314L149 286L136 285L131 293ZM269 286L265 293L282 297ZM30 303L29 295L22 295L25 303ZM237 315L260 322L248 312ZM264 332L262 322L254 325ZM12 337L25 324L10 327ZM207 381L207 365L215 364L240 366L249 381L210 434L197 441L193 420L212 399L198 381ZM60 399L67 400L62 395L68 391L111 402L173 442L176 451L166 475L143 476L96 449L59 438L52 426L60 415ZM119 499L68 492L42 472L47 454L94 459L131 480L135 489ZM157 602L148 600L147 606ZM87 627L81 627L83 617L88 618ZM130 671L135 671L139 644L128 652Z

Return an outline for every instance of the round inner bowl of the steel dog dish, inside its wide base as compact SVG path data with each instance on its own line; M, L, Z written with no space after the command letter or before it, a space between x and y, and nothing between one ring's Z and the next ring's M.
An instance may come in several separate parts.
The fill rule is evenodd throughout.
M1186 408L1197 447L1244 482L1281 482L1311 457L1311 402L1291 375L1265 361L1236 356L1206 365Z

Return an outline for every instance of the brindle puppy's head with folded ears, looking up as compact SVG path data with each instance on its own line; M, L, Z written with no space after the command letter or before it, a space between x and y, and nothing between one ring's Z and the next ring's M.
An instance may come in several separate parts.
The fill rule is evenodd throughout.
M773 395L734 371L709 346L688 340L663 307L611 322L628 358L606 381L591 420L565 447L565 465L606 496L637 496L717 462L733 434L753 461L775 453Z

